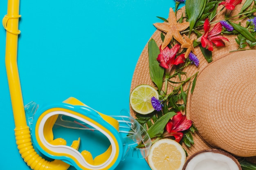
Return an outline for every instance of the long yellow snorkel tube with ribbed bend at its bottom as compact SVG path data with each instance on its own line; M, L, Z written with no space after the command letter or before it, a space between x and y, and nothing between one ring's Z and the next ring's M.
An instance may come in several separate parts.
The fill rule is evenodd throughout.
M4 29L6 29L5 65L15 123L16 144L21 157L31 169L67 170L70 167L69 164L57 159L54 161L43 159L31 143L17 65L18 34L20 34L18 22L21 16L19 15L19 4L19 0L8 0L7 15L4 16L2 21Z

